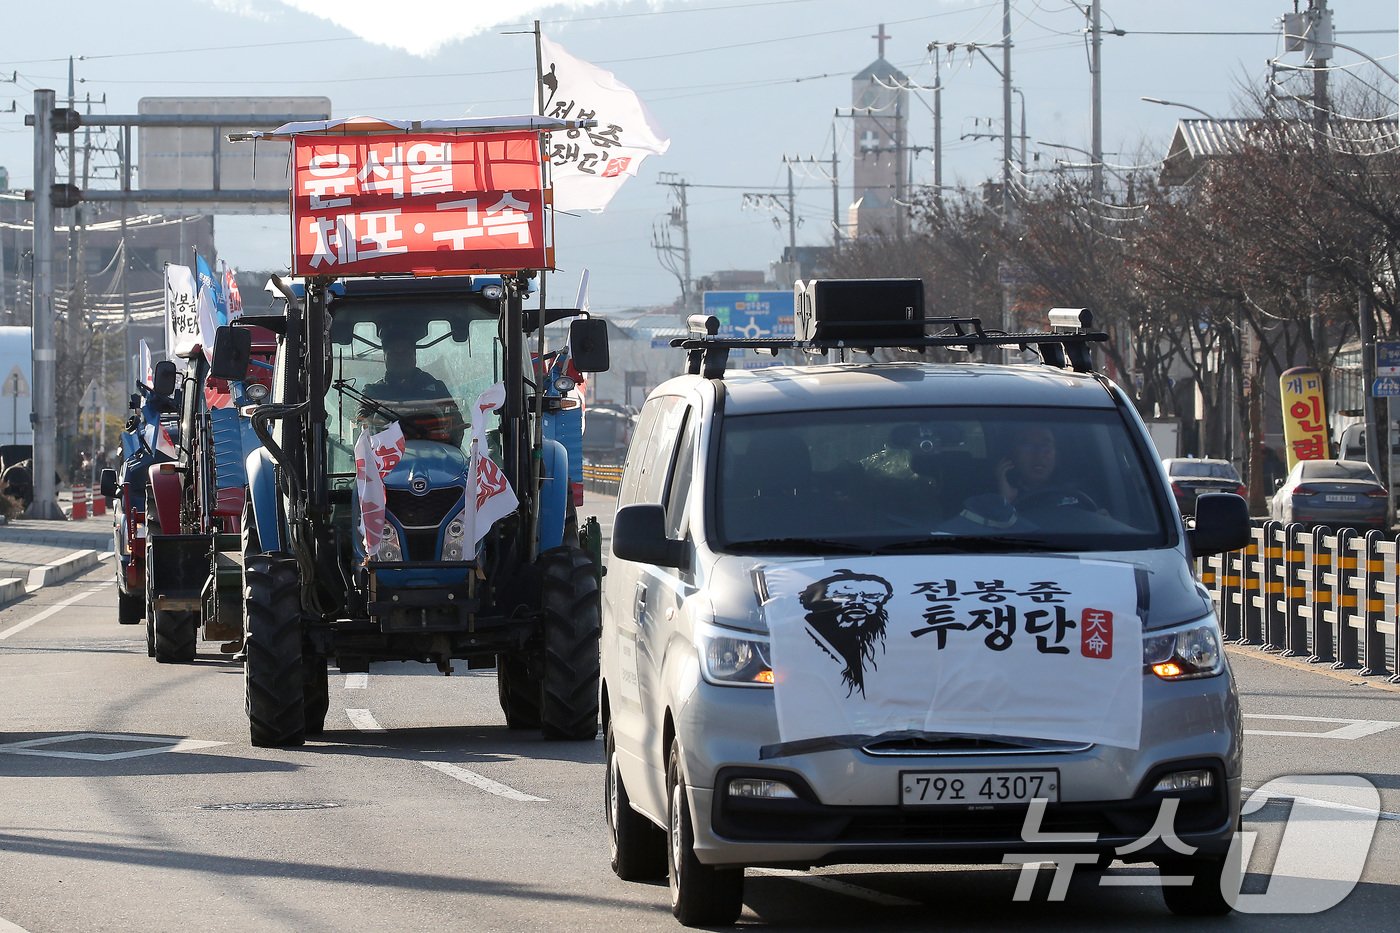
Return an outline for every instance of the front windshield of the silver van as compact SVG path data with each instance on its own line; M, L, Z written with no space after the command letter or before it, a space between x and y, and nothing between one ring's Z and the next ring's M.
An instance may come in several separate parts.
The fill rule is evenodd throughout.
M724 419L728 551L1137 551L1172 541L1155 464L1113 409L927 406Z

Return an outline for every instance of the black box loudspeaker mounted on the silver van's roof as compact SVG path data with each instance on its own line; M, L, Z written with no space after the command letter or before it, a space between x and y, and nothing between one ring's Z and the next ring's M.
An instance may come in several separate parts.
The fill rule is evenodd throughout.
M920 279L811 279L794 286L799 340L900 340L924 336Z

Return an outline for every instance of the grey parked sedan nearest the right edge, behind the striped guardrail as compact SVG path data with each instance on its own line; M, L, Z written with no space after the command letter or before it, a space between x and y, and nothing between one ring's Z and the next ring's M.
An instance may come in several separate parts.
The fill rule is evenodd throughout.
M1390 493L1364 459L1305 459L1268 504L1271 518L1330 528L1386 528Z

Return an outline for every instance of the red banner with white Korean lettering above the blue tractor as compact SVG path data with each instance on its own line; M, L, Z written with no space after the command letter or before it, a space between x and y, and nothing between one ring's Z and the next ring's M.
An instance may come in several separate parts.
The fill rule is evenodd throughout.
M552 268L539 136L295 136L293 275Z

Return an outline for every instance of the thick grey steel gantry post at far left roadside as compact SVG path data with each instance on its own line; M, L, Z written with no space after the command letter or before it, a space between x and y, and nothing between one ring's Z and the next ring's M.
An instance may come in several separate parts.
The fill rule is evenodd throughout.
M63 518L53 485L53 104L52 90L34 91L34 502L31 518Z

